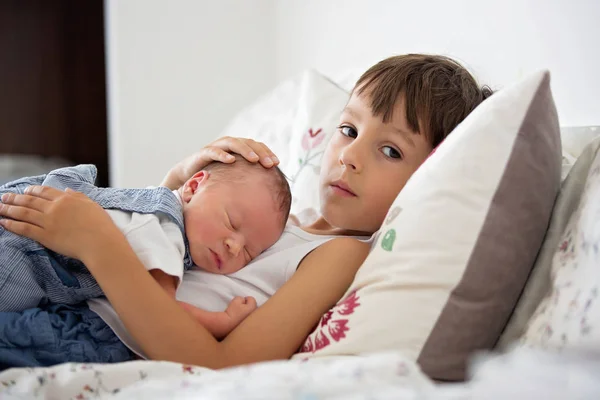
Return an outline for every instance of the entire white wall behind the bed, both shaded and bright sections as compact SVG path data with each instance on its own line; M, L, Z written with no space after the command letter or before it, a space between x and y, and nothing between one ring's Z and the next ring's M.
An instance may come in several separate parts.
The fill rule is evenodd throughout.
M279 80L407 52L458 58L495 88L548 68L561 124L600 125L597 0L105 4L114 186L157 184Z

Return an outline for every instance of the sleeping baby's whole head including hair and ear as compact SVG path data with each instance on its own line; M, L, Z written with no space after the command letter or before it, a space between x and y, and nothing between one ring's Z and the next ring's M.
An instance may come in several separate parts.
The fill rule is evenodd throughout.
M181 188L185 232L194 264L231 274L281 236L292 197L277 167L264 168L236 156L213 162Z

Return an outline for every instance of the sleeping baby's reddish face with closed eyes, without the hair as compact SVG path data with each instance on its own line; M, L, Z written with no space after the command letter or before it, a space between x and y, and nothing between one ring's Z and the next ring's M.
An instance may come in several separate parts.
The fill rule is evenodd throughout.
M198 267L234 273L281 236L282 212L264 177L249 173L241 182L227 182L205 175L190 181L182 188L183 216Z

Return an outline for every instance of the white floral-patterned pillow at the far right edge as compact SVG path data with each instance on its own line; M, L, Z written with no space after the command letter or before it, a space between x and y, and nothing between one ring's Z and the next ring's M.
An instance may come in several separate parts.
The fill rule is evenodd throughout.
M600 142L592 145L583 194L554 247L551 290L529 322L526 345L600 347Z

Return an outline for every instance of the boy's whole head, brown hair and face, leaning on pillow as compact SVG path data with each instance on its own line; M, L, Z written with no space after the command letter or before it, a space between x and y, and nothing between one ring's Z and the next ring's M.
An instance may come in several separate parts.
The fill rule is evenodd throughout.
M321 213L333 227L373 233L435 148L487 96L442 56L387 58L358 80L323 156Z

